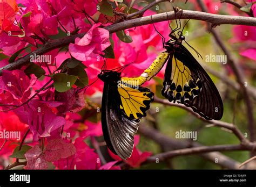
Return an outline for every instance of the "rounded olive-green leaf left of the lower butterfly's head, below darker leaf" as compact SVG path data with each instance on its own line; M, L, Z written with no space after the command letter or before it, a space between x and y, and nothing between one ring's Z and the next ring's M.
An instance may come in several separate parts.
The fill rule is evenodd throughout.
M72 88L72 85L77 81L77 76L58 73L53 76L53 85L58 92L65 92Z

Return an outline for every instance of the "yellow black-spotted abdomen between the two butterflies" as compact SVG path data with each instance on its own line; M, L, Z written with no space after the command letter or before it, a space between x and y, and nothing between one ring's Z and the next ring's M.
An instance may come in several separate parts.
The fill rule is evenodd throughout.
M142 75L139 77L129 78L123 77L121 81L123 83L136 84L137 86L144 84L146 81L151 80L152 77L156 76L156 74L163 68L165 62L169 58L169 52L162 52L159 56L157 56L156 60L149 66L149 68L145 69Z

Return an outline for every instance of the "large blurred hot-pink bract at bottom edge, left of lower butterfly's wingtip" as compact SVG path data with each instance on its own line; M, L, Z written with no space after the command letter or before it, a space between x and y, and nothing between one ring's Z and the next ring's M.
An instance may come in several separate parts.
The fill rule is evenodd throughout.
M76 154L68 157L68 159L60 159L54 162L58 169L99 169L100 160L94 149L86 145L83 138L77 138L74 146Z

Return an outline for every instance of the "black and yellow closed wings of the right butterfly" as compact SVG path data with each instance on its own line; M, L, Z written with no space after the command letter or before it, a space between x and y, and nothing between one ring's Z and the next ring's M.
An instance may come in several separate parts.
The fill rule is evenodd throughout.
M162 95L182 103L205 119L219 120L223 102L210 76L192 54L180 45L168 60Z

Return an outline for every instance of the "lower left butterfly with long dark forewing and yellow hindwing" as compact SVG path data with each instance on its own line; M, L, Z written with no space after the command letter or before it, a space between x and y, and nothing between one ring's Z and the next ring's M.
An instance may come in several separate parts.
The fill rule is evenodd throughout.
M139 121L146 116L153 92L143 87L123 84L120 72L102 70L102 129L107 147L122 159L131 156Z

